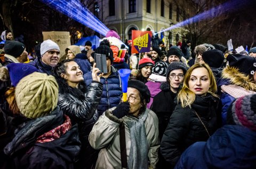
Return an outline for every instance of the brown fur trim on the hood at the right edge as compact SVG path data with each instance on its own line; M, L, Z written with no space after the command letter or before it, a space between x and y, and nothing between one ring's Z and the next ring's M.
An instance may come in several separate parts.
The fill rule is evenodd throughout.
M234 67L226 67L221 74L223 79L228 80L230 84L241 86L249 91L256 91L256 84L252 82L250 76L239 72L239 69Z

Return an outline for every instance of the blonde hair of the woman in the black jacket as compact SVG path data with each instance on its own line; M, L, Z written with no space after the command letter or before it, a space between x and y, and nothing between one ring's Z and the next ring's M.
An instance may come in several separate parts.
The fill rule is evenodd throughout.
M212 73L211 68L205 63L203 63L203 64L196 63L195 65L191 66L188 69L188 71L185 75L185 78L184 78L183 86L182 86L180 92L178 93L178 100L181 102L181 106L183 108L185 108L187 106L189 106L191 108L191 104L196 99L196 94L189 89L189 85L188 85L190 75L191 75L192 71L195 70L196 68L205 68L208 71L211 87L209 88L209 91L207 91L207 92L211 93L213 96L218 98L218 95L214 94L217 92L217 84L216 84L215 77Z

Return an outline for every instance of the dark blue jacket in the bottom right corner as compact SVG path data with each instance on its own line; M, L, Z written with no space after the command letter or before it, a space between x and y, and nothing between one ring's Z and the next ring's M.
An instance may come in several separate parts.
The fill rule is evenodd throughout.
M244 126L225 125L207 142L196 142L183 152L175 169L255 166L256 132Z

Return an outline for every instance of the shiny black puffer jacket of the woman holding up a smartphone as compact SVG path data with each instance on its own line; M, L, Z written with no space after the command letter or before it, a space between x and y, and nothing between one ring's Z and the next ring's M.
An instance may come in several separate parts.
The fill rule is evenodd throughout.
M78 123L82 147L76 168L90 168L97 160L98 151L90 146L88 136L99 118L97 107L102 95L102 83L92 81L86 88L84 82L81 82L78 88L73 88L58 77L57 82L59 84L58 105L64 114L71 118L72 123Z

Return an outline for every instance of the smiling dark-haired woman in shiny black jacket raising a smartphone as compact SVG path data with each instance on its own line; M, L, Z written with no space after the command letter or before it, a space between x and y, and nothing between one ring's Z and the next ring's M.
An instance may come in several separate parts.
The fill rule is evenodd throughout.
M84 84L83 73L74 60L61 61L53 72L59 84L58 106L70 117L72 124L78 124L82 147L76 168L91 167L98 156L98 151L93 150L88 141L89 133L98 120L96 110L102 94L102 74L99 74L100 70L95 66L94 63L91 73L93 81L88 87Z

